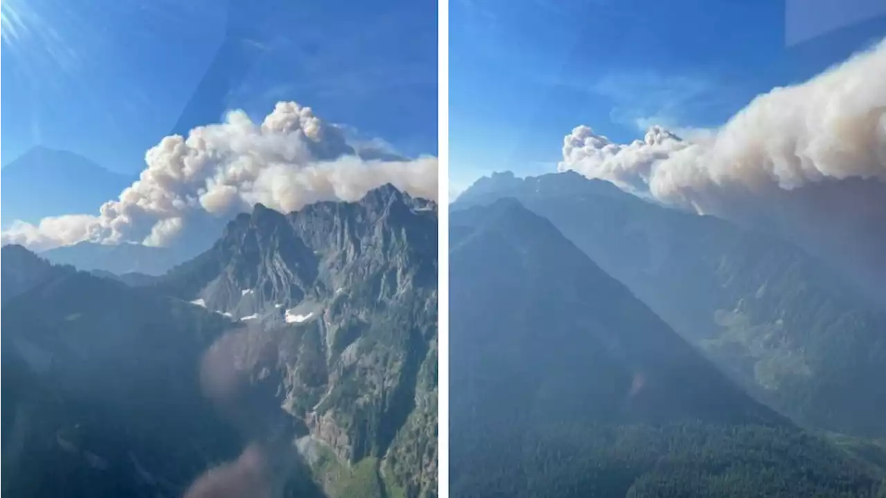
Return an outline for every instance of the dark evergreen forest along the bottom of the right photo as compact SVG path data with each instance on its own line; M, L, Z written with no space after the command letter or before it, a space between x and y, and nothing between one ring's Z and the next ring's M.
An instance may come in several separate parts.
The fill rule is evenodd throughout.
M453 432L458 498L881 498L882 475L818 436L723 426Z

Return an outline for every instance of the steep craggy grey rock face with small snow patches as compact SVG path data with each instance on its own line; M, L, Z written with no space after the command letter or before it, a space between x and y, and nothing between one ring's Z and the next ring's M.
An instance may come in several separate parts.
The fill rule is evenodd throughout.
M286 215L259 205L154 288L249 324L264 353L246 369L307 427L318 479L345 476L330 494L369 464L387 494L436 493L432 203L388 185Z

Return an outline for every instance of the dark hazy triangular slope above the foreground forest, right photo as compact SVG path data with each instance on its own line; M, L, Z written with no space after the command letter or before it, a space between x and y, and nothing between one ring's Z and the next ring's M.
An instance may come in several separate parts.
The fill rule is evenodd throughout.
M502 410L522 405L511 421L574 402L570 411L588 421L787 423L735 388L624 285L516 200L451 220L452 381L463 376L480 389L467 376L483 365L509 372L517 389L501 386L506 400L477 402ZM604 385L555 381L579 371ZM541 393L548 397L536 398Z

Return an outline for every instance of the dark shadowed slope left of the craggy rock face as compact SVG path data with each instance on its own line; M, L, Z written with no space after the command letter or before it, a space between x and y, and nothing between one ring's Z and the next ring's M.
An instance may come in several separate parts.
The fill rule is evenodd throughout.
M237 455L200 355L230 323L71 272L0 309L0 496L181 495Z

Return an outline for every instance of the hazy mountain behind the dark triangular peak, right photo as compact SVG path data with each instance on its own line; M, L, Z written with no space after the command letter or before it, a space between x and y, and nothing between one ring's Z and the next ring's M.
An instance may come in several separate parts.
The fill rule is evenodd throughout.
M823 261L576 173L498 179L455 207L520 199L758 400L800 424L886 435L886 315Z

